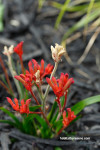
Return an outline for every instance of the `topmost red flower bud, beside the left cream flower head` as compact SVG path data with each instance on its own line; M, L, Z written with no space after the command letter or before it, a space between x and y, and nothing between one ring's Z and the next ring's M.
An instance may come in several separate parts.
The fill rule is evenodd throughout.
M20 42L16 47L14 47L14 52L17 53L17 55L20 57L20 59L22 59L22 55L23 55L23 41Z

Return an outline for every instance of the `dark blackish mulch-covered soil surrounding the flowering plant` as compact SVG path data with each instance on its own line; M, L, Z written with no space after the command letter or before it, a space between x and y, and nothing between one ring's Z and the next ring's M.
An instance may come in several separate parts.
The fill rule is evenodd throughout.
M49 2L50 0L47 0L43 8L39 11L37 0L3 1L5 5L4 31L0 33L0 54L3 60L6 59L2 54L5 45L16 45L18 42L24 41L23 60L26 68L28 61L32 58L38 62L43 58L46 64L54 64L50 46L54 46L55 43L60 44L64 33L79 18L70 19L68 17L69 14L65 13L59 28L57 30L54 29L54 23L59 11L51 7ZM59 63L56 76L59 77L61 72L64 72L68 73L75 80L68 96L67 107L73 106L76 102L87 97L100 94L100 35L84 61L80 65L76 64L77 60L83 54L92 34L90 33L86 36L85 40L81 36L67 45L67 52L74 65L69 64L65 57ZM14 60L16 61L17 59L18 57L14 55ZM3 75L2 72L0 66L0 74ZM14 83L12 85L14 87ZM7 96L9 94L0 85L0 106L8 105L6 101ZM49 95L48 100L50 104L53 103L51 97L53 98L52 93ZM51 141L35 139L34 137L20 133L9 125L0 123L0 150L60 150L57 147L64 150L99 150L100 104L96 103L86 107L81 114L82 118L68 128L68 131L76 132L79 137L90 137L90 140L72 142L62 141L60 138ZM0 111L0 119L3 118L8 119L8 116Z

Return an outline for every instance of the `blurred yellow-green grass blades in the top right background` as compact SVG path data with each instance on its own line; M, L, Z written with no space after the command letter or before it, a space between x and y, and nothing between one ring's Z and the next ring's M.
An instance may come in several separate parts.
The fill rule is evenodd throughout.
M74 14L77 14L76 18L77 16L80 17L80 20L70 27L63 35L62 42L65 42L70 35L72 35L75 31L78 31L80 28L85 27L85 29L88 29L88 24L95 21L95 19L98 19L100 16L99 0L66 0L64 4L52 1L51 5L60 10L55 22L55 28L59 27L65 12L72 13L73 16Z

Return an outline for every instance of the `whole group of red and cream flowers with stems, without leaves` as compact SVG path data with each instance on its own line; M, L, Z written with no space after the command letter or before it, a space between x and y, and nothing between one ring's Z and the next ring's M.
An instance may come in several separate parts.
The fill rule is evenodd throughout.
M20 75L17 75L17 72L12 65L13 59L12 59L11 54L14 52L19 56L21 71L22 71L22 74L20 74ZM12 108L15 111L19 112L20 114L27 114L27 115L34 114L34 113L41 114L43 116L45 122L48 124L48 127L52 128L52 131L54 131L55 127L53 128L52 123L50 122L50 119L48 119L48 117L46 116L46 113L47 113L46 99L47 99L47 96L49 93L49 89L51 87L56 96L55 101L57 102L57 104L59 106L59 112L55 118L55 121L61 121L63 124L60 131L58 132L58 134L60 134L62 132L62 130L65 129L71 123L71 121L73 121L76 118L76 116L74 115L74 112L71 111L70 108L67 108L67 112L68 112L67 117L66 117L66 111L64 111L66 102L67 102L67 93L68 93L68 90L69 90L71 84L74 83L74 80L73 80L73 78L69 78L69 75L67 73L66 74L61 73L59 79L55 78L55 73L56 73L58 64L61 60L61 57L66 53L66 50L64 49L63 46L61 46L59 44L55 44L55 47L51 46L51 52L52 52L52 58L55 63L54 67L51 64L47 64L47 66L45 66L43 59L41 60L40 65L38 64L38 62L35 59L32 59L31 61L28 62L28 70L26 70L24 67L24 64L23 64L23 59L22 59L23 41L20 42L16 47L11 46L10 48L7 48L7 47L4 48L3 53L8 57L8 67L9 67L9 70L13 77L13 80L15 82L19 97L22 99L23 97L27 96L27 100L24 101L24 99L22 99L20 101L20 104L19 104L19 101L17 98L14 98L14 102L13 102L11 98L7 97L7 101L10 103ZM51 75L50 78L46 77L47 75ZM46 81L48 83L45 93L44 93L44 91L42 91L42 88L41 88L44 77L46 77ZM24 85L25 89L27 89L29 91L29 93L31 94L31 96L34 98L37 106L39 106L39 107L36 106L37 108L39 108L39 112L30 111L29 105L30 105L31 99L28 99L28 98L30 98L30 95L28 94L28 92L27 93L23 92L22 86L16 79ZM36 86L38 89L40 101L38 101L37 97L35 96L36 94L34 93L34 91L32 89L33 85ZM63 106L61 105L61 101L60 101L62 96L64 98ZM35 106L33 106L33 107L35 107ZM53 115L52 109L51 109L51 115ZM62 119L60 120L61 115L63 117L63 121L62 121ZM29 115L28 117L30 118L31 116L33 116L33 115ZM36 115L36 117L37 116L38 115ZM24 118L24 115L23 115L23 118ZM26 118L24 118L24 119L26 119ZM37 119L37 121L38 121L38 119ZM30 120L32 120L32 119L30 119ZM42 122L42 121L40 121L40 122ZM32 122L32 124L33 124L33 122ZM43 133L43 132L41 131L41 133Z

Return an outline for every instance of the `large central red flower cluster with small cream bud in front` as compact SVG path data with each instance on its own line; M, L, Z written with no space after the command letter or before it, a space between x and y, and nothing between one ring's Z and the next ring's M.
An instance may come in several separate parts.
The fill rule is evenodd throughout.
M34 68L33 68L34 65ZM44 60L41 60L41 66L37 63L35 59L29 61L28 63L29 71L26 70L26 74L20 74L19 76L15 76L17 80L22 82L27 90L31 90L32 85L36 84L37 86L41 85L43 82L43 78L46 75L51 74L53 70L53 66L48 64L44 68Z

